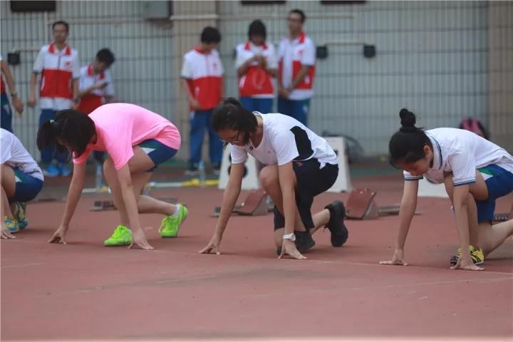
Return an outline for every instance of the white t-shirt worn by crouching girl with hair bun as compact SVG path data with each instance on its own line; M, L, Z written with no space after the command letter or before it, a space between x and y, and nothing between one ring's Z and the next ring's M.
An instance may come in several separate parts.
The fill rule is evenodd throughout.
M475 172L480 167L497 165L513 173L513 157L504 148L495 145L469 130L435 128L426 130L433 146L433 165L425 177L433 183L443 183L444 175L452 172L453 184L475 183ZM421 180L404 172L405 180Z

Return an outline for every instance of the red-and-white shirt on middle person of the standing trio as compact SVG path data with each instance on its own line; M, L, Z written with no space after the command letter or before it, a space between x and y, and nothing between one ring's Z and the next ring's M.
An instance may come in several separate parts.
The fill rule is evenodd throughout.
M251 41L239 44L236 48L237 57L235 59L235 68L238 69L249 58L254 56L263 56L267 63L267 68L278 68L276 61L276 51L272 44L256 46ZM247 73L239 77L239 95L249 96L252 98L274 98L274 79L255 61L249 68Z

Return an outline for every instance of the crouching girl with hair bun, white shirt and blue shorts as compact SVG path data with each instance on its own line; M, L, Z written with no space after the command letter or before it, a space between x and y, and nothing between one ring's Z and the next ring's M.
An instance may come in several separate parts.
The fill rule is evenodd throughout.
M460 249L452 269L482 270L484 257L513 234L513 219L493 224L495 200L513 192L513 157L502 147L458 128L421 130L400 110L401 128L389 143L390 164L404 170L395 252L380 264L403 265L404 245L417 206L418 181L445 184L455 211Z

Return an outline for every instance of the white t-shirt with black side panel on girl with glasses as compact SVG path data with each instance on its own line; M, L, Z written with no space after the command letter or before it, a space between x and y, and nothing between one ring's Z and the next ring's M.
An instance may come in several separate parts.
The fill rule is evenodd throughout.
M284 165L292 160L316 158L321 168L328 164L337 165L337 157L328 142L316 135L305 125L290 116L269 113L260 115L263 120L263 136L260 144L253 147L232 145L232 163L239 164L247 160L249 153L265 165Z

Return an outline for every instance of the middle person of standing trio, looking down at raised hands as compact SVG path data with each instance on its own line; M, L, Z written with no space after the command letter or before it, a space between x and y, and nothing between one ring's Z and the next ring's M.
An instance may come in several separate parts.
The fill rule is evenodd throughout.
M236 48L235 68L239 76L242 106L249 111L271 113L274 77L278 74L276 52L266 43L266 27L260 20L249 24L248 41Z

